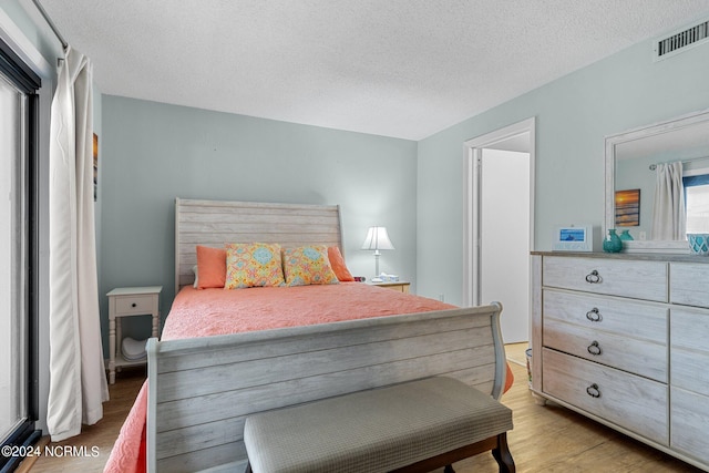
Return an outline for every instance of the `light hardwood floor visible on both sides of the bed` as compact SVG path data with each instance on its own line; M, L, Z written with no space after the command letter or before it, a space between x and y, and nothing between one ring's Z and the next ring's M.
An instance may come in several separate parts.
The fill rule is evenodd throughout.
M507 346L515 381L502 402L514 412L514 430L508 434L510 450L517 472L700 472L679 460L650 449L583 415L555 404L537 405L527 389L526 343ZM30 471L101 472L123 419L141 388L144 370L120 373L111 387L111 401L104 404L104 419L61 445L100 448L100 456L88 459L40 457ZM481 454L454 464L458 473L496 473L490 454ZM441 470L442 471L442 470Z

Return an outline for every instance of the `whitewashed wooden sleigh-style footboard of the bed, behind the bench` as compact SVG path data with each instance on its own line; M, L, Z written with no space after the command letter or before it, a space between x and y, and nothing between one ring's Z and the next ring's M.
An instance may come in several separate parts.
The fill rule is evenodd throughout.
M247 415L445 374L495 399L501 306L147 343L147 466L246 465Z

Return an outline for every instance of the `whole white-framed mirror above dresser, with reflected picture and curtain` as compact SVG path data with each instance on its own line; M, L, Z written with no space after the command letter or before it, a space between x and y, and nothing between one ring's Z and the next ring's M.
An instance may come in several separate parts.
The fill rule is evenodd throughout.
M668 167L681 175L672 188L676 204L660 199L662 185L658 189L658 173ZM668 206L672 217L658 219ZM709 233L709 111L606 138L605 228L627 229L636 250L687 250L686 233Z

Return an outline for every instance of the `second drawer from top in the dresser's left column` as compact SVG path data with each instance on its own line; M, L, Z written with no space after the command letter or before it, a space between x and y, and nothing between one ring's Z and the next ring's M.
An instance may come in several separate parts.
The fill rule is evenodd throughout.
M545 289L543 310L545 322L559 320L621 337L667 343L669 310L657 304Z

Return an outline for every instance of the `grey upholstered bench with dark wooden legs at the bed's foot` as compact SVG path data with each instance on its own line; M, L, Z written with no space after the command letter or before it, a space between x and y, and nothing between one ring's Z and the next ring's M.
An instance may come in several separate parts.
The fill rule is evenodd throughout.
M512 411L446 377L358 391L249 415L247 472L429 472L491 450L514 472Z

